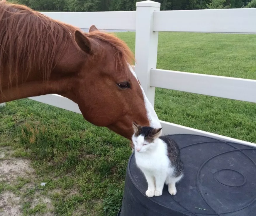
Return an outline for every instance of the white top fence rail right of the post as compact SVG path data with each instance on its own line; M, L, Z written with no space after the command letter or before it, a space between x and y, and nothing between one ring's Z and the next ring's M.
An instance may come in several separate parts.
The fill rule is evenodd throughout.
M256 33L255 8L155 11L153 31Z

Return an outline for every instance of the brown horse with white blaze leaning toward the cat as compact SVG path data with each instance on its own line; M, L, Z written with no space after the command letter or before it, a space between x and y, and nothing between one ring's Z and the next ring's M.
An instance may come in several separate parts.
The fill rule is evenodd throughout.
M0 1L0 103L59 94L84 118L131 139L132 122L161 127L131 68L133 53L112 34L89 33Z

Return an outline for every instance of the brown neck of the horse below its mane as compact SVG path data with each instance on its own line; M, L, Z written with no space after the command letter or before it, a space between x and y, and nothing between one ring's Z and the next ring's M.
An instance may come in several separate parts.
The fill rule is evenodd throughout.
M25 82L13 80L9 85L7 72L7 76L2 77L3 86L0 91L0 103L45 94L60 94L74 101L75 97L72 95L72 88L76 83L77 71L83 63L83 59L76 52L77 48L69 47L67 52L59 59L47 81L44 81L38 70L35 70L29 73ZM77 56L74 61L69 61L70 53ZM17 83L18 85L16 85Z

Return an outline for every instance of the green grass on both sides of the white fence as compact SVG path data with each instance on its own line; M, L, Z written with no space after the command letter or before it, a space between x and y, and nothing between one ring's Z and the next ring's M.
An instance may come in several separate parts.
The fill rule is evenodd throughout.
M134 51L134 32L117 35ZM256 79L255 50L256 35L160 32L157 68ZM155 110L161 120L256 142L253 103L157 88ZM32 174L0 180L1 194L20 197L23 215L116 215L121 206L128 141L82 115L9 102L0 108L0 146L5 160L31 160Z

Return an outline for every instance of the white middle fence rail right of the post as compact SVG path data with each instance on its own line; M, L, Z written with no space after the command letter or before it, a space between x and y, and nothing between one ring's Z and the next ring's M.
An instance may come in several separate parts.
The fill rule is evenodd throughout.
M150 86L256 103L256 80L151 69Z

